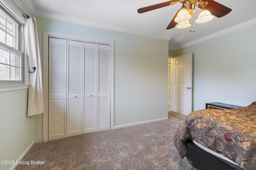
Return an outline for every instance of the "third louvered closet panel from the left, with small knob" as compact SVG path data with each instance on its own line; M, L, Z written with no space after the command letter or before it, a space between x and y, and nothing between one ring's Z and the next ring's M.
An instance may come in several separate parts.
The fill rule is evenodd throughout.
M84 43L84 133L97 131L98 45Z

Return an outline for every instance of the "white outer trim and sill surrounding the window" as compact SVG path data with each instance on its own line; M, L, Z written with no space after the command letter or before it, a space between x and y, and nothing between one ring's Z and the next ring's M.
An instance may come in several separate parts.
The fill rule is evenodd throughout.
M25 18L23 16L23 13L20 12L19 9L15 6L14 2L10 0L0 0L0 4L6 10L11 11L14 17L20 22L20 23L25 23ZM21 31L21 30L20 30ZM22 35L23 36L23 35ZM24 43L24 39L22 40L22 43ZM24 90L28 89L29 87L29 70L28 70L28 58L25 55L24 51L24 84L17 84L17 85L0 85L0 92L10 92L10 91L16 91L16 90Z

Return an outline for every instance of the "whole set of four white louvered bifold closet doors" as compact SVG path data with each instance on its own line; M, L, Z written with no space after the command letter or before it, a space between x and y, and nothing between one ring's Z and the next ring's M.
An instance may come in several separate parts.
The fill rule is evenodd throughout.
M48 139L110 129L110 45L49 38Z

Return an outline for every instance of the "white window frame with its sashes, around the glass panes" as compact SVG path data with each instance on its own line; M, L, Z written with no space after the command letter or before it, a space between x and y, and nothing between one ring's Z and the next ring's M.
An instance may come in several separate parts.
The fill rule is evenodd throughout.
M6 89L6 86L10 86L10 88L14 88L13 90L15 90L19 85L20 86L24 86L27 85L28 86L28 59L26 58L26 55L24 53L26 53L26 51L24 51L24 23L25 23L25 18L24 18L24 12L18 8L18 6L16 6L16 4L14 4L14 2L10 1L10 0L0 0L0 9L9 17L11 18L15 23L18 24L18 29L17 29L17 33L18 33L18 45L17 45L17 49L10 47L4 43L0 43L0 45L3 48L6 48L6 46L8 46L11 49L11 52L13 51L14 53L18 53L21 57L21 80L0 80L0 88L2 88L2 90L0 89L0 92L4 91L4 89ZM6 46L5 46L6 45ZM26 89L27 86L24 86L24 88ZM20 88L18 88L20 89ZM10 91L10 89L8 88L8 91Z

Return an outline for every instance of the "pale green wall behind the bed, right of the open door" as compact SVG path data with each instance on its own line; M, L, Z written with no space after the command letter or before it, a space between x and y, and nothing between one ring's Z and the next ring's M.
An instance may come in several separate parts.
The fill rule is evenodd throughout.
M256 24L176 50L193 53L194 110L207 102L248 106L256 101Z

